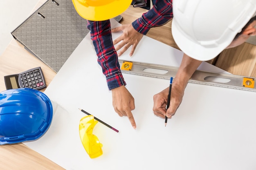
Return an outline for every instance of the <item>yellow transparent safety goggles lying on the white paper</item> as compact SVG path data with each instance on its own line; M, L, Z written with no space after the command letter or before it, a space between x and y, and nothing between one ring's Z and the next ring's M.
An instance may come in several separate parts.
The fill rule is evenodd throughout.
M102 144L99 142L97 136L92 134L94 126L98 123L93 115L83 117L79 123L79 135L83 147L90 156L90 158L97 158L103 154Z

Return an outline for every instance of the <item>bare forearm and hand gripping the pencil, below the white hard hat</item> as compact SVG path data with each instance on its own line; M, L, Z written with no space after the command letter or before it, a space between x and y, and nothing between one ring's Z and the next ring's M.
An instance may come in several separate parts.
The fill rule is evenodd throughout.
M162 118L164 118L165 116L171 118L175 114L177 108L182 102L182 97L184 95L184 91L190 77L193 75L193 73L201 63L202 61L195 60L186 54L183 55L180 68L178 69L177 74L173 79L169 108L168 110L166 110L169 88L167 87L153 97L153 111L155 115Z

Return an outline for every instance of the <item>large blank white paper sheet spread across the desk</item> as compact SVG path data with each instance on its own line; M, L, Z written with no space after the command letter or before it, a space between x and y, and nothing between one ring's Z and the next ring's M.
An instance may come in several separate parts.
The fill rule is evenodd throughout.
M181 58L182 52L146 36L133 57L121 57L171 66L179 66ZM200 67L223 72L206 62ZM115 113L86 36L45 91L58 104L49 130L25 144L67 170L256 169L255 93L188 84L180 108L165 127L164 119L153 114L153 95L169 81L128 74L124 78L135 98L137 130ZM103 144L103 155L96 159L90 159L81 144L79 121L85 114L79 108L119 130L95 126L94 135Z

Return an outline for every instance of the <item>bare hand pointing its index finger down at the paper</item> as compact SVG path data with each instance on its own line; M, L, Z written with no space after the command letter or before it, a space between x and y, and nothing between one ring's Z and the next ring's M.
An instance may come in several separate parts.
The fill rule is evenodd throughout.
M136 123L131 112L135 109L134 98L125 86L114 88L111 91L115 112L121 117L127 116L132 127L136 129Z

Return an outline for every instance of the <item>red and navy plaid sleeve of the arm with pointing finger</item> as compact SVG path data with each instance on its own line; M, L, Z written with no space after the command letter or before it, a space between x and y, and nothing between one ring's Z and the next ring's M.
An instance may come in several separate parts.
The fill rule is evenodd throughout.
M89 21L88 29L94 49L98 56L98 63L106 76L109 90L126 85L120 70L117 52L112 41L110 20Z

